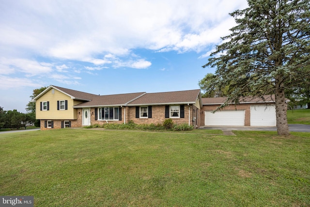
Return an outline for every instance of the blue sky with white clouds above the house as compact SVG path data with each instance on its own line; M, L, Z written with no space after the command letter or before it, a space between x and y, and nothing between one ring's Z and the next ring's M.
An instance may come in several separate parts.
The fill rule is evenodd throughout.
M0 106L56 85L109 95L198 89L246 0L0 0Z

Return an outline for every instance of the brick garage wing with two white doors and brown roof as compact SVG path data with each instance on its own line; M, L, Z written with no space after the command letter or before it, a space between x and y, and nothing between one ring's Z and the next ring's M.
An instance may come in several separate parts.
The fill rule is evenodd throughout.
M226 97L202 98L202 126L276 126L275 96L240 98L240 104L221 106Z

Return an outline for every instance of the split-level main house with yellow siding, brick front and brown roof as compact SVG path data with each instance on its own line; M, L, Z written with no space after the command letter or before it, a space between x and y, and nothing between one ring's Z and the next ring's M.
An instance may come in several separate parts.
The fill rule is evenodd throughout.
M104 123L176 124L200 126L200 90L99 96L50 85L32 99L41 129L82 127Z

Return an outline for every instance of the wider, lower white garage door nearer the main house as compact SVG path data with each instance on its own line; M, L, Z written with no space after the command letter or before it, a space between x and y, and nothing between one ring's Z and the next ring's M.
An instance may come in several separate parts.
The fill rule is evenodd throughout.
M206 126L244 126L245 111L204 111Z

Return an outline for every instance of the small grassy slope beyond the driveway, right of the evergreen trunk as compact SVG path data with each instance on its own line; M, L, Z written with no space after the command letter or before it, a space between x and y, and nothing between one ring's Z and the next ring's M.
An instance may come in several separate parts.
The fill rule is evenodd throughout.
M310 125L310 110L288 110L287 111L287 122L289 124L308 124Z

